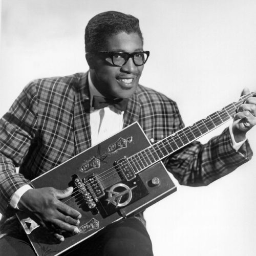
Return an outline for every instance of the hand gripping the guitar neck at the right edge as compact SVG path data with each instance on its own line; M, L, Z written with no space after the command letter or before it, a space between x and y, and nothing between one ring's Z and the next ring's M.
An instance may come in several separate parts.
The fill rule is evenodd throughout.
M248 94L250 91L245 88L241 96ZM237 109L233 116L232 131L236 142L243 141L246 133L256 124L256 98L249 97Z

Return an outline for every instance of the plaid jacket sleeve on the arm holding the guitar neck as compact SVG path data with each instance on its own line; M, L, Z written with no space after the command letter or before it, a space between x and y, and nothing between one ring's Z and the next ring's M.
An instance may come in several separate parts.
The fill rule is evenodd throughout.
M174 131L184 127L177 105L175 107ZM248 141L239 149L232 147L228 129L211 138L208 143L198 141L181 148L164 160L167 170L182 185L203 186L231 173L252 157Z

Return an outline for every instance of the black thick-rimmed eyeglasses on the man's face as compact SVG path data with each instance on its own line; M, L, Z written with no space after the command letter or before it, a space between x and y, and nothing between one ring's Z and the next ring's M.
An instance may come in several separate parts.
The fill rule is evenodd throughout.
M139 52L93 52L98 55L104 55L106 58L110 58L112 64L116 67L121 67L129 60L133 59L136 66L142 66L146 63L148 56L150 56L149 51L139 51Z

